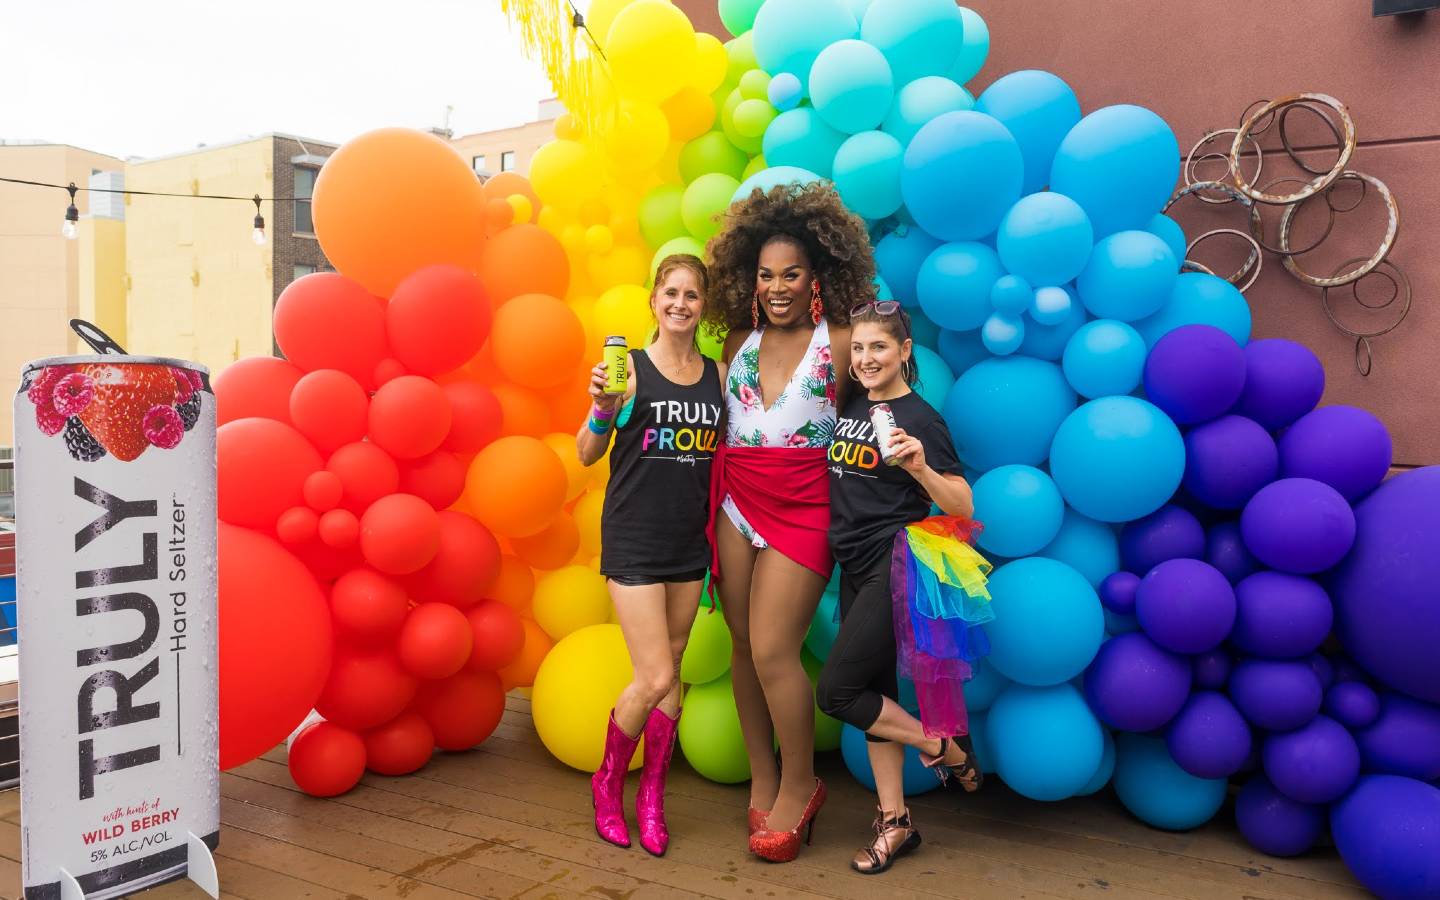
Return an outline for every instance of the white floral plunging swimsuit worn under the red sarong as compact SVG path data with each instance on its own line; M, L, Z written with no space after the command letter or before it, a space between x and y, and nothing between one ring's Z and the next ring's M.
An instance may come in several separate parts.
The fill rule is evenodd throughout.
M835 436L835 363L829 350L829 325L815 327L805 356L769 409L760 397L760 337L765 325L750 331L730 361L726 377L726 446L806 448L829 446ZM740 514L730 494L720 504L730 524L752 546L769 543Z

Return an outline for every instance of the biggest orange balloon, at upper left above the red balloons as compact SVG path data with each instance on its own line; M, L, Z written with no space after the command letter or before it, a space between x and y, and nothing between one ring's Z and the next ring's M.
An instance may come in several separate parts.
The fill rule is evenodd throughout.
M426 265L480 266L484 189L432 134L380 128L346 143L320 170L312 206L325 256L377 297Z

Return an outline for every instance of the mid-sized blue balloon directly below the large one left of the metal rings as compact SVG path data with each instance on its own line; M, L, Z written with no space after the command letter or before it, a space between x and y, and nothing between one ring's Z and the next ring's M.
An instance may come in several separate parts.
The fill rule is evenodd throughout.
M1133 323L1165 305L1176 275L1179 261L1162 238L1116 232L1094 245L1090 262L1076 279L1076 291L1097 318Z

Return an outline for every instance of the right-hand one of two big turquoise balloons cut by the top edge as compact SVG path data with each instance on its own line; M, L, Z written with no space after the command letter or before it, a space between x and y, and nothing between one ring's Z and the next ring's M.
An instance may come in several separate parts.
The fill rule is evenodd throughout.
M873 0L860 22L860 37L876 45L896 84L943 75L955 65L965 20L952 0Z

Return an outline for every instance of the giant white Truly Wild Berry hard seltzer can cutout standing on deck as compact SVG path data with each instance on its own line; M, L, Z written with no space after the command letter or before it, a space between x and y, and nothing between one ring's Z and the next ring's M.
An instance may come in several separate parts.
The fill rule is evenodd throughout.
M24 896L118 897L219 841L215 395L96 354L14 406Z

